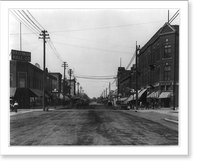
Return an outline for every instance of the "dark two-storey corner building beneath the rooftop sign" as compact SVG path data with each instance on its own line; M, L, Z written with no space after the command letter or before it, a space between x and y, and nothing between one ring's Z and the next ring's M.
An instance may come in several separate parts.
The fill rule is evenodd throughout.
M45 86L45 98L51 102L51 92L56 88L57 78L46 70L44 85L43 73L43 70L29 62L10 61L10 97L18 101L19 108L42 106L43 86Z

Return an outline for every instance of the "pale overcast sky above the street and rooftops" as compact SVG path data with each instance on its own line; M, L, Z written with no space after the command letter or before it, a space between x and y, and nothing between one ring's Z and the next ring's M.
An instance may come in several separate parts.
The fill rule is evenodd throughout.
M140 47L168 21L178 9L10 9L9 50L20 50L20 19L29 16L41 29L48 31L46 67L64 74L63 62L90 98L99 97L108 88L116 89L113 77L117 68L131 60L136 41ZM24 12L24 13L23 13ZM181 14L181 13L180 13ZM172 25L179 25L178 16ZM33 27L30 25L30 27ZM38 28L36 28L38 29ZM43 40L39 30L21 24L21 46L31 52L31 63L43 69ZM134 62L132 62L133 64ZM66 72L67 73L67 72ZM97 80L80 76L109 76ZM69 79L69 75L66 77Z

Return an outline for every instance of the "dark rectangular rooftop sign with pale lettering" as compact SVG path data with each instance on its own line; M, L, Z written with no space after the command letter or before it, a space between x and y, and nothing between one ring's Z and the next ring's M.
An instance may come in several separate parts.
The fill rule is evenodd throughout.
M18 61L31 61L31 52L19 51L19 50L11 50L12 60Z

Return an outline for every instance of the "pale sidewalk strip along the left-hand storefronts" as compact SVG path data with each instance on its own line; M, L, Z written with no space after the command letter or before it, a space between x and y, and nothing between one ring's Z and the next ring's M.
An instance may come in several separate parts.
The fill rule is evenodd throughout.
M50 106L48 111L53 111L56 109L62 109L63 106L56 106L56 108L54 108L54 106ZM30 109L18 109L17 113L15 113L14 111L10 111L10 116L12 115L16 115L16 114L24 114L24 113L29 113L29 112L34 112L34 111L43 111L43 108L30 108Z

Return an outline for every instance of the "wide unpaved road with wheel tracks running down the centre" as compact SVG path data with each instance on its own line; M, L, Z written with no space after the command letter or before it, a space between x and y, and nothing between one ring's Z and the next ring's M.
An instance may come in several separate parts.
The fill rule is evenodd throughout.
M11 116L10 145L178 145L178 132L95 105Z

